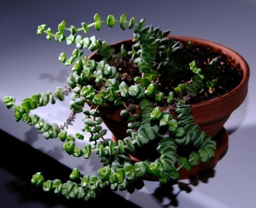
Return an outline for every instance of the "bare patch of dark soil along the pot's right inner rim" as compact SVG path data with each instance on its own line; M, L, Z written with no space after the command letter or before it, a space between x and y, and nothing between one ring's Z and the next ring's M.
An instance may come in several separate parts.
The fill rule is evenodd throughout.
M189 48L188 45L186 47ZM222 54L221 51L213 51L211 47L198 45L192 45L189 51L193 55L192 59L196 60L197 66L203 70L203 73L209 77L209 80L218 80L218 85L213 89L209 90L209 88L205 86L203 93L198 94L197 97L190 98L189 101L191 103L207 101L224 95L234 89L242 81L240 65L231 57ZM219 56L219 60L216 63L215 69L213 69L214 71L211 72L209 71L209 64L213 58L217 56Z

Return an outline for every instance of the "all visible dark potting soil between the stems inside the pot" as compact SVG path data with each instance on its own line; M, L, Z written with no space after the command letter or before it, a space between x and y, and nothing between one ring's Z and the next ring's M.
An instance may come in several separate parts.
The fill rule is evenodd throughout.
M186 63L182 63L182 67L187 68L187 70L177 70L173 76L165 76L164 74L162 77L165 84L161 82L161 76L160 80L157 81L159 86L158 90L163 92L166 96L168 96L169 92L177 87L178 84L190 81L194 73L189 69L188 63L193 60L197 62L197 67L202 69L207 80L212 81L216 79L218 80L218 84L211 89L204 86L203 91L199 93L197 97L191 97L188 103L198 103L219 97L234 89L241 82L241 67L231 57L222 54L221 51L213 51L210 46L184 44L186 50L183 55L186 57L184 59ZM216 62L215 67L210 70L210 62L217 56L219 60ZM128 85L131 85L134 84L134 77L142 76L137 64L131 62L129 57L119 58L116 62L112 60L110 60L108 64L118 69L120 73L120 83L125 81ZM97 85L97 88L104 88L104 82Z

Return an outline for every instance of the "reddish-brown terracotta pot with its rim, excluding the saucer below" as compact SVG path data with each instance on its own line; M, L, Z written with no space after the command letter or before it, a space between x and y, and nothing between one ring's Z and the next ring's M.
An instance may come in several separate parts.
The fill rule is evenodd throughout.
M175 38L176 40L187 42L191 41L192 44L211 46L213 50L221 51L223 54L234 59L237 64L240 64L241 70L243 71L243 77L241 83L228 92L227 94L192 105L192 116L194 116L195 123L200 126L200 129L206 131L208 135L214 137L220 129L223 127L228 117L237 109L245 99L248 91L248 80L249 80L249 66L241 55L235 51L206 40L191 38L191 37L180 37L180 36L169 36L169 38ZM120 49L121 44L126 46L131 46L132 41L126 40L121 42L116 42L112 44L116 50ZM89 58L94 58L97 60L98 55L96 53L89 56ZM101 116L104 123L112 131L116 138L123 139L127 137L127 123L126 120L120 117L121 108L116 106L109 106L110 108L102 108ZM139 113L139 108L137 106L136 112Z

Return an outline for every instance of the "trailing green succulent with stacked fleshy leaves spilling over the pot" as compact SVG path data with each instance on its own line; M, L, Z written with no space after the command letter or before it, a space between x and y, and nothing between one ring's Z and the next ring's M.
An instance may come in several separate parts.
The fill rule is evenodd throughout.
M33 175L31 183L43 186L46 192L53 190L67 198L88 200L97 197L104 188L132 193L135 188L142 188L143 179L149 175L161 183L179 180L178 171L181 168L190 170L200 161L208 162L216 152L216 142L195 124L188 101L203 91L205 86L209 89L215 87L217 80L204 73L196 60L184 62L189 54L184 43L167 37L170 31L144 27L144 19L137 23L134 17L128 20L126 14L120 20L113 15L101 20L100 15L95 14L94 20L91 24L82 23L81 28L66 27L63 20L56 33L46 25L39 26L37 33L45 33L48 40L54 38L57 42L66 41L68 45L76 46L70 57L65 53L59 55L59 61L71 66L73 71L67 79L68 85L57 87L55 92L33 94L20 105L16 105L15 98L10 96L4 97L3 102L8 109L14 109L17 122L22 120L34 125L46 139L59 138L63 142L63 149L75 157L88 159L92 153L98 154L103 167L98 170L98 176L82 176L75 168L66 182L44 180L42 173L38 172ZM104 23L110 28L119 24L123 30L133 29L131 48L122 45L120 51L115 51L111 45L95 36L84 38L82 34L78 35L79 32L87 34L91 27L100 30ZM66 31L70 34L66 35ZM86 48L97 51L98 59L83 56L83 49ZM137 69L138 76L130 82L122 81L119 69L112 65L121 58L126 58ZM214 68L217 59L213 59L206 68ZM173 78L178 71L192 74L190 80L179 83L168 93L161 91L159 85L169 82L170 77ZM31 114L38 107L55 104L56 100L63 101L72 91L71 115L64 125L51 125ZM86 103L89 109L84 108ZM123 108L120 116L128 121L128 137L118 142L104 138L107 129L101 126L100 109L110 108L110 105ZM135 112L136 108L140 113ZM71 135L68 127L75 115L81 112L85 114L84 127L81 132ZM76 146L77 139L87 138L84 148ZM152 140L158 142L156 150L159 157L155 161L132 162L129 154L139 151ZM188 144L193 144L198 151L189 153L188 158L178 155L177 147Z

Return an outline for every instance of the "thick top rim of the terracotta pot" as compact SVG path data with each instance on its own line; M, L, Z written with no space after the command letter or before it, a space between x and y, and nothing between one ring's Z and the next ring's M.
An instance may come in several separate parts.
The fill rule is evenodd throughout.
M250 69L249 69L248 63L245 61L245 59L240 54L238 54L234 50L228 48L227 46L221 45L216 42L212 42L212 41L208 41L208 40L204 40L204 39L200 39L200 38L194 38L194 37L169 35L168 38L170 38L170 39L174 38L174 39L177 39L180 41L185 41L185 42L192 41L192 42L196 42L199 45L209 45L213 48L213 50L220 50L223 54L230 56L232 59L235 59L236 63L240 64L241 69L243 71L242 81L234 89L232 89L231 91L229 91L228 93L226 93L222 96L219 96L219 97L207 100L207 101L192 104L192 108L200 108L205 105L213 105L217 102L222 102L223 100L226 100L227 98L232 97L235 94L239 93L239 91L241 91L248 83L249 76L250 76ZM123 42L131 42L131 41L132 41L132 39L126 39L126 40L114 42L111 45L120 44ZM96 53L97 52L94 52L91 55L89 55L88 59L91 59L94 55L96 55ZM136 105L136 108L139 108L139 106ZM163 107L163 108L165 108L165 107Z

